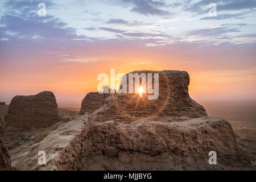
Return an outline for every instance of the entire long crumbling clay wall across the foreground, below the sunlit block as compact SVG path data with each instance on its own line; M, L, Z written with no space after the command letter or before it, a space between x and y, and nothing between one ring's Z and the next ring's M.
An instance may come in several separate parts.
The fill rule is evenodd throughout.
M39 166L41 150L47 164ZM209 151L216 151L217 165L209 164ZM208 117L134 124L90 122L85 115L52 131L19 161L15 167L33 170L251 169L230 124Z

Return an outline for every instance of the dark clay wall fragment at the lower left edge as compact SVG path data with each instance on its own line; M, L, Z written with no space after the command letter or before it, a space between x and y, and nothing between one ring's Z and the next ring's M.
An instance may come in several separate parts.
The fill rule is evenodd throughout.
M3 134L3 123L0 118L0 171L2 170L14 170L15 168L11 167L11 156L9 155L8 148L2 141Z

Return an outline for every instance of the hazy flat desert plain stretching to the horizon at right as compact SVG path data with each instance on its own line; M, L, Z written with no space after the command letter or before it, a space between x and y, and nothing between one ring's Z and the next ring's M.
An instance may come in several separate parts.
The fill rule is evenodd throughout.
M256 159L256 102L255 101L201 101L209 116L230 122L234 133L249 149L251 159ZM255 165L255 164L254 164Z

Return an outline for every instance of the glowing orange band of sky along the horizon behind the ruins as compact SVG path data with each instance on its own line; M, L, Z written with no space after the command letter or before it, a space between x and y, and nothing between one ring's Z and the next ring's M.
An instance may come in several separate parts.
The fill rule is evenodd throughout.
M119 52L118 52L119 53ZM30 95L44 90L52 91L57 102L77 102L89 92L96 92L100 81L97 76L106 73L110 78L110 69L127 74L139 70L180 70L189 74L189 94L195 100L212 98L255 98L256 68L242 70L213 69L212 65L183 63L175 53L170 58L148 55L109 55L115 60L94 61L89 63L63 62L40 65L9 65L1 67L0 100L10 102L16 95ZM136 59L134 58L136 57ZM203 59L203 58L202 58ZM106 59L102 59L106 60ZM119 60L119 61L117 61ZM210 68L208 68L210 67ZM121 80L115 80L119 85ZM110 82L109 82L110 86ZM142 95L140 94L142 97Z

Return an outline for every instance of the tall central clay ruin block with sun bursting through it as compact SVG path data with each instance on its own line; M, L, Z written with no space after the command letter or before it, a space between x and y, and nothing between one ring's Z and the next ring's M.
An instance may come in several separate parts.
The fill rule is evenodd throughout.
M148 100L148 94L115 94L108 97L105 104L92 114L93 121L105 122L119 120L132 122L140 118L168 117L170 120L184 121L186 119L207 116L204 107L189 96L189 75L185 71L134 71L131 73L159 73L159 97ZM127 93L129 76L127 77ZM87 103L90 105L90 103ZM93 103L91 103L93 104ZM167 120L168 120L167 119ZM166 119L164 119L166 120Z

